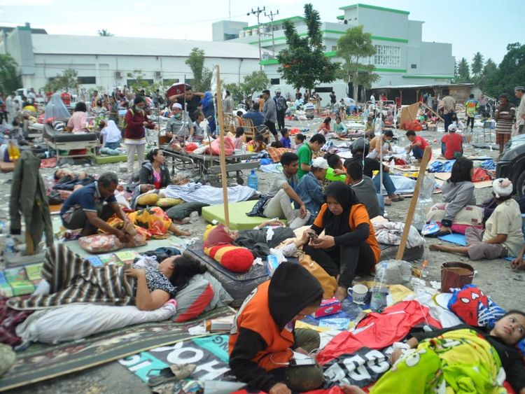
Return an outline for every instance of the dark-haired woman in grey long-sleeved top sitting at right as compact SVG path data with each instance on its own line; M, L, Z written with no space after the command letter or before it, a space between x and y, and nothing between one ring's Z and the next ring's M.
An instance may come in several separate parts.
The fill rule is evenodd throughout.
M456 214L465 206L476 204L472 171L474 171L472 160L466 157L460 157L452 166L450 178L441 187L443 202L447 203L447 208L444 210L440 231L433 234L433 237L451 234L451 226ZM431 217L429 219L432 220Z

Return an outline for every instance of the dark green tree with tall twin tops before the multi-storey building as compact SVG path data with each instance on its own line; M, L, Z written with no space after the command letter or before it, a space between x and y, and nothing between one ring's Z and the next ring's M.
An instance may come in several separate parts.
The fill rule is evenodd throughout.
M277 55L277 71L293 87L313 89L317 83L330 83L337 78L339 63L332 63L325 57L323 35L321 34L321 17L311 4L304 4L304 20L307 24L307 35L297 34L295 25L284 22L284 34L287 48Z

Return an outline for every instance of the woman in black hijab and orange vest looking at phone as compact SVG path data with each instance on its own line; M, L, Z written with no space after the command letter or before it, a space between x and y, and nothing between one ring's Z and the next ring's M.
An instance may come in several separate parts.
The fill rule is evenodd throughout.
M366 207L349 185L332 182L325 196L326 202L308 230L310 241L303 251L337 278L335 297L342 301L354 276L374 269L380 251ZM323 230L325 235L319 237Z

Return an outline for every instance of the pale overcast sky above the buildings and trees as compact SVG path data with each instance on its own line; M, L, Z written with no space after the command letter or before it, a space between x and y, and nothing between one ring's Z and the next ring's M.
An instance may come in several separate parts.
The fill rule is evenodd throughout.
M354 1L311 0L321 20L336 22L341 6ZM363 0L374 6L407 10L409 19L422 20L423 41L452 43L456 59L470 62L479 51L498 64L508 43L525 43L525 0ZM48 34L96 35L107 29L116 36L179 38L211 41L211 24L217 20L241 20L256 24L251 8L279 10L276 19L302 15L304 2L297 0L196 0L196 1L71 1L0 0L0 24L30 22ZM267 17L261 14L261 22Z

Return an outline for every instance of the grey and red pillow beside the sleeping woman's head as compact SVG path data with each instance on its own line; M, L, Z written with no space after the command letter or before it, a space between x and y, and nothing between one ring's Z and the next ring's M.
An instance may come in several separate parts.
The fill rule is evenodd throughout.
M176 293L177 314L173 321L181 323L196 318L214 297L214 289L202 276L193 276L188 286Z

